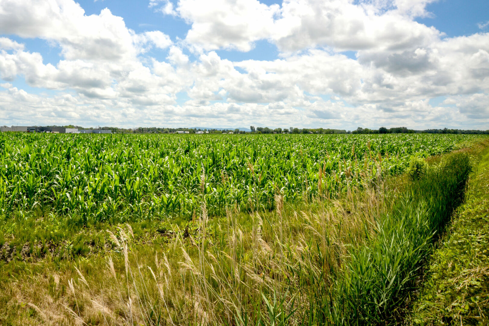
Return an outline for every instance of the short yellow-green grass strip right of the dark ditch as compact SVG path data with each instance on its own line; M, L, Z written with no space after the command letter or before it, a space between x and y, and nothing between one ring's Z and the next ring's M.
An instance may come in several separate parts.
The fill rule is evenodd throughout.
M473 159L465 203L430 258L411 325L489 324L489 148Z

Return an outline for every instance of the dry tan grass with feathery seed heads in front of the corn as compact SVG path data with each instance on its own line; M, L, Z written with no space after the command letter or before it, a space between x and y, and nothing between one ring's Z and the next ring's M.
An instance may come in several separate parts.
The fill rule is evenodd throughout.
M331 282L348 245L365 239L383 209L383 182L378 175L375 182L366 191L349 188L340 199L320 196L300 211L275 196L274 212L252 214L245 223L228 209L216 225L202 207L195 239L176 229L161 248L134 244L126 225L110 233L120 254L80 260L78 267L64 262L56 272L41 262L42 272L1 293L15 293L12 309L29 303L24 309L33 313L14 318L22 325L156 325L158 317L160 325L234 324L236 313L265 309L262 293L294 299L294 308L305 311L310 274ZM299 266L304 274L291 272Z

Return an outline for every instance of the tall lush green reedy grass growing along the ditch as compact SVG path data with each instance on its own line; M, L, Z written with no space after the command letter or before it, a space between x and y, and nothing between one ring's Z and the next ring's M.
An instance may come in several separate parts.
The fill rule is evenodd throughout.
M464 199L470 173L469 155L459 151L411 174L405 190L389 199L392 208L376 217L368 239L350 250L333 296L317 298L309 320L399 325L423 263Z

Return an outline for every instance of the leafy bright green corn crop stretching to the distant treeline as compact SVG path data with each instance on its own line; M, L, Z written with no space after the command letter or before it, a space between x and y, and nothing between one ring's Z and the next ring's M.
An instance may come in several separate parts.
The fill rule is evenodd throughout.
M404 171L412 155L452 151L470 135L0 134L3 216L49 207L80 222L121 215L273 209Z

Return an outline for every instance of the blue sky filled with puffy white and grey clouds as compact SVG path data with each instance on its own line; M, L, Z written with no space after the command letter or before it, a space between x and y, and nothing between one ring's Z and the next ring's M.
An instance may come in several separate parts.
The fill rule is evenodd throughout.
M0 125L489 129L487 0L0 0Z

